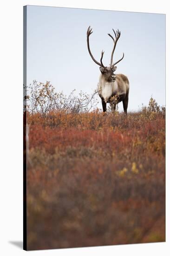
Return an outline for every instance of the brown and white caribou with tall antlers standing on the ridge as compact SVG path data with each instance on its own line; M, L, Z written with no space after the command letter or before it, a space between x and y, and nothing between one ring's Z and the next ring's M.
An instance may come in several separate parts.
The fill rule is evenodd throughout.
M124 53L123 53L123 57L120 60L113 63L113 54L114 54L118 39L120 37L120 31L117 30L115 32L114 29L112 30L114 32L115 38L111 34L108 34L113 40L113 50L111 52L111 62L109 67L106 67L103 64L103 61L102 61L103 55L104 55L103 50L101 53L100 62L96 61L92 55L92 52L90 50L90 45L89 45L89 36L93 33L91 26L89 26L87 29L87 47L88 47L89 54L92 57L92 60L96 64L98 64L98 66L100 66L101 74L99 76L97 91L98 91L98 95L102 100L103 112L106 112L106 103L110 103L111 110L115 111L116 105L122 101L123 107L124 107L124 113L127 114L128 97L129 97L129 81L127 76L125 76L124 74L114 74L114 72L117 69L115 65L118 64L118 62L123 60Z

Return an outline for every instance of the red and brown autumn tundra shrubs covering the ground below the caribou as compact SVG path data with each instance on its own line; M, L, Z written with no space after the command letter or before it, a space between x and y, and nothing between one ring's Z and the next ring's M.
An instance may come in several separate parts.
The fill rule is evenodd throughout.
M165 241L165 108L104 116L36 81L25 101L27 248Z

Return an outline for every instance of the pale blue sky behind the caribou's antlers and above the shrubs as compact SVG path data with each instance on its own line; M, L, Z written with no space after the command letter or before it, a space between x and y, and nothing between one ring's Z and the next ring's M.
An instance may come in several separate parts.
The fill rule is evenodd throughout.
M165 15L59 7L27 6L27 84L51 81L56 91L92 93L100 74L87 50L91 25L92 54L109 66L112 28L121 31L114 53L115 73L130 81L128 110L137 111L150 96L165 105ZM122 102L119 103L121 111ZM99 99L99 108L102 108Z

